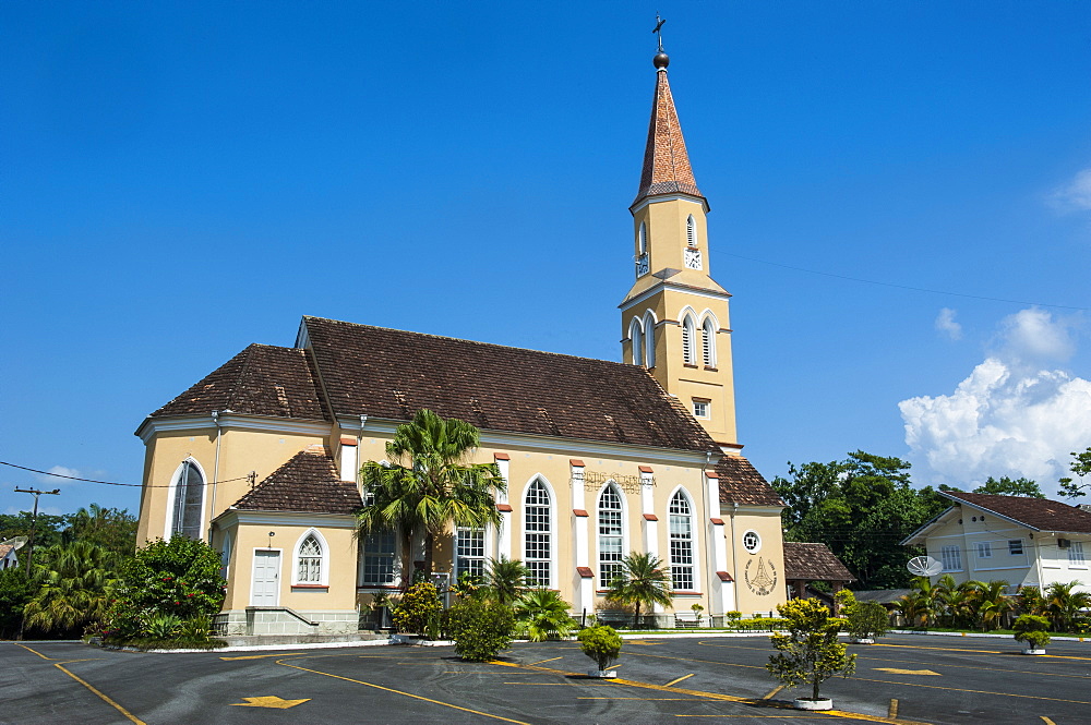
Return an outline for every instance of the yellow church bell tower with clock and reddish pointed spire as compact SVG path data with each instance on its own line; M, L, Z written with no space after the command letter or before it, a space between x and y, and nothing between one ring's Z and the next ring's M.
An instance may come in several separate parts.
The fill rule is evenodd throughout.
M622 358L644 365L724 449L738 452L727 290L709 276L708 201L697 189L667 81L656 93L633 215L636 280L619 305Z

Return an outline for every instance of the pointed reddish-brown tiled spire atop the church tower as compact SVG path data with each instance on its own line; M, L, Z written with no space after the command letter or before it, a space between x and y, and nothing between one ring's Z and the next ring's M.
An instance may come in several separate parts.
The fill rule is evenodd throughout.
M640 189L633 204L658 194L690 194L705 201L693 178L685 140L682 138L682 126L674 109L674 98L671 97L671 86L667 82L670 59L660 51L654 62L658 69L656 95L651 101L651 122L648 124L648 144L644 149ZM707 201L705 205L708 205Z

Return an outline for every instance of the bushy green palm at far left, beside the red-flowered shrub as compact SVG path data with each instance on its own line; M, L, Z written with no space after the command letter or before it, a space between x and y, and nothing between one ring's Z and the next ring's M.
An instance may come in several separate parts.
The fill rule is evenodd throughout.
M23 609L26 624L45 631L72 630L101 621L117 583L113 557L95 544L56 544L34 563L38 592Z

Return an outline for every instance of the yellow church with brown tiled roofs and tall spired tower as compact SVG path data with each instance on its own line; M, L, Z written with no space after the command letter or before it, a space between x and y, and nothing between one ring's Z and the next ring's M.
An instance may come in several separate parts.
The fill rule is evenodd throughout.
M359 470L424 408L477 426L473 462L507 482L499 525L437 542L441 578L520 559L578 616L609 608L619 561L647 552L670 569L664 624L786 601L784 505L735 434L731 295L710 276L668 63L655 57L630 207L622 362L304 316L293 347L250 345L141 424L139 540L223 552L225 633L355 632L361 606L399 590L396 532L357 535Z

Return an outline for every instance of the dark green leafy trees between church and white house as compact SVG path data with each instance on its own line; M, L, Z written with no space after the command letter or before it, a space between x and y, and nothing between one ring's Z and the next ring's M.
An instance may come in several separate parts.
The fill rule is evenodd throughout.
M862 450L843 461L789 463L772 486L788 508L787 541L820 542L852 571L859 589L895 589L911 579L912 549L900 542L949 505L910 485L910 464Z

